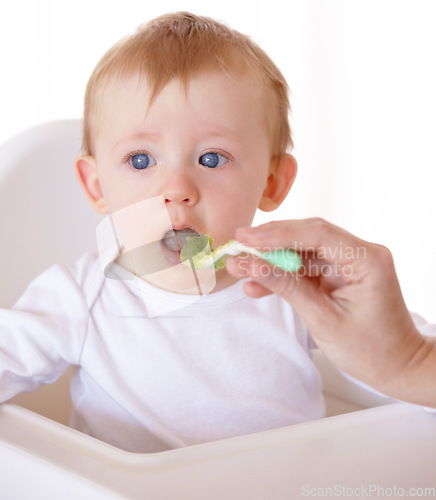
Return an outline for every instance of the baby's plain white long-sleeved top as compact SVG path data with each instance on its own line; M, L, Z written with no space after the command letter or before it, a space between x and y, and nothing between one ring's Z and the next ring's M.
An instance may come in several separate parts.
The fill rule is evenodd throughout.
M239 282L198 301L142 284L172 312L149 318L139 283L95 256L54 266L0 311L0 401L75 365L71 425L157 452L324 416L307 328L280 297Z

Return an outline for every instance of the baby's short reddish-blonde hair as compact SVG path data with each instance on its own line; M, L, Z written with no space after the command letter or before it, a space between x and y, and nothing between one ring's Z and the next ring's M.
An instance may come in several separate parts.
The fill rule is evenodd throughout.
M96 101L104 85L117 76L144 75L151 89L151 102L170 80L189 78L202 70L218 67L227 73L250 71L266 83L273 97L271 130L274 154L292 148L288 114L288 86L270 57L247 36L208 17L178 12L158 17L140 26L136 33L106 52L86 87L83 118L83 151L94 153ZM275 108L275 109L274 109Z

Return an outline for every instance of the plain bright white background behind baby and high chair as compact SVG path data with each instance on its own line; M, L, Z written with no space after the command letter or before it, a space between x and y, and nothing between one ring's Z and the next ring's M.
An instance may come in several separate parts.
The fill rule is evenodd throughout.
M80 117L98 59L157 15L189 10L249 34L292 90L299 175L274 218L321 216L388 246L409 308L436 322L436 2L2 0L0 9L0 143Z

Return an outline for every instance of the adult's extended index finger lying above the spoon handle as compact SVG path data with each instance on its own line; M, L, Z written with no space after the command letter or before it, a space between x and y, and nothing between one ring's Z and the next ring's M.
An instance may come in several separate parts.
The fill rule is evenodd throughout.
M240 228L241 243L265 250L292 248L303 258L318 258L339 265L366 258L368 242L323 219L274 221L255 228Z

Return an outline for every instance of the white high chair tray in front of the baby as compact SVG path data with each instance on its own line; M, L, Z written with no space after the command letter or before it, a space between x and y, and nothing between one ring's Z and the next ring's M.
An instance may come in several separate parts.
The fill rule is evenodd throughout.
M403 496L410 488L417 489L415 494L432 489L427 496L436 496L436 414L395 403L134 454L5 404L0 407L0 470L0 497L7 500L289 500L315 492L328 496L327 488L350 498L353 491L365 496L363 488L373 497L381 496L381 488L392 496L394 487L403 489ZM379 488L378 495L369 488Z

